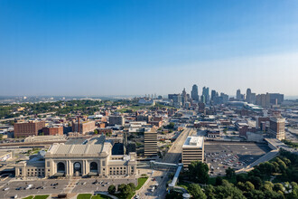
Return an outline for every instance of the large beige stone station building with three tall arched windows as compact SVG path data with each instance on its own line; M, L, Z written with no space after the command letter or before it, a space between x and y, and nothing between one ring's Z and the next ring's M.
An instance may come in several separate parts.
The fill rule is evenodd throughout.
M93 137L81 145L54 144L44 154L15 166L16 177L136 175L136 155L112 155L105 137Z

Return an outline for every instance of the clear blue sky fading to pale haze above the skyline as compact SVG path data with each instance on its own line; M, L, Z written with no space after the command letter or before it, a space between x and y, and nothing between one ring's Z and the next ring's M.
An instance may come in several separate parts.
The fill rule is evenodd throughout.
M298 1L0 1L0 95L298 91Z

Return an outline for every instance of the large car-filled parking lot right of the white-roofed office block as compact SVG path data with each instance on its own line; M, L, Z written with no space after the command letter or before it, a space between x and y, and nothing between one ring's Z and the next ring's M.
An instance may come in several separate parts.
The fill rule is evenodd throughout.
M206 142L205 158L210 165L210 175L225 175L228 167L241 169L269 152L265 144Z

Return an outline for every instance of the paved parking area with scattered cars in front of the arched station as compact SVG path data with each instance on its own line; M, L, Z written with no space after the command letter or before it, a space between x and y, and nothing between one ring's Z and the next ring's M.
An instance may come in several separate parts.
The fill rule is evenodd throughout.
M107 191L109 185L134 183L135 178L88 178L88 179L39 179L35 181L10 180L0 184L0 198L24 197L32 194L93 193ZM28 186L31 186L28 188ZM27 188L27 189L26 189Z

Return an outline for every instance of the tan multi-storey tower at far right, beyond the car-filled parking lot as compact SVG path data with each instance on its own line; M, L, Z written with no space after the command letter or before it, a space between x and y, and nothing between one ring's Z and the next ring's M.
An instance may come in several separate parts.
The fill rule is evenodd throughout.
M269 128L269 134L272 137L275 137L279 140L282 140L285 138L285 133L284 133L284 118L277 118L273 117L270 118L270 128Z

